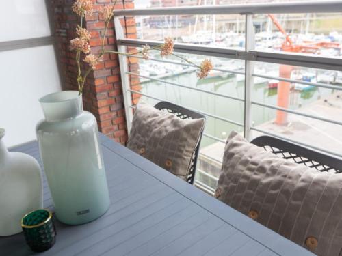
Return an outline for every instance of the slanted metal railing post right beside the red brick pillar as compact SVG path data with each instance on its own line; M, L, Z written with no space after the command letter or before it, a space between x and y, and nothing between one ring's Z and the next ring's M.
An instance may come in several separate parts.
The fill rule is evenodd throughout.
M119 17L114 17L114 28L116 40L124 38L124 30L122 29L122 25L120 23ZM121 53L127 53L126 46L118 45L118 51ZM127 74L128 63L127 57L125 55L119 55L119 65L120 65L120 75L121 75L121 83L122 83L122 94L124 98L124 113L126 115L127 122L127 132L129 133L131 130L131 123L133 119L133 112L131 109L132 106L132 96L129 89L131 89L129 76Z

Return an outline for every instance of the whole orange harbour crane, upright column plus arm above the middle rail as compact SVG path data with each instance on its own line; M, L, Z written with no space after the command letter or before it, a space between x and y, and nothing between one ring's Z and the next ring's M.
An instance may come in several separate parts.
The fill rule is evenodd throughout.
M280 25L274 14L268 14L272 22L279 31L285 35L285 41L282 43L281 50L293 53L317 53L320 48L338 48L339 43L335 42L304 42L304 44L293 44L290 36L286 33L285 29ZM293 66L280 65L279 76L285 79L291 79L291 73ZM285 81L279 81L278 83L278 99L277 105L288 109L289 108L289 95L290 95L291 83ZM277 111L276 124L287 124L287 112Z

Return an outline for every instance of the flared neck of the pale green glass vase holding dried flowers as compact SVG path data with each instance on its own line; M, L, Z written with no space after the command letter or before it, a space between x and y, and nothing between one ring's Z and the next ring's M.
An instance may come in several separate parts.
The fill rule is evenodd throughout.
M69 119L83 111L82 95L78 91L60 91L40 98L47 121Z

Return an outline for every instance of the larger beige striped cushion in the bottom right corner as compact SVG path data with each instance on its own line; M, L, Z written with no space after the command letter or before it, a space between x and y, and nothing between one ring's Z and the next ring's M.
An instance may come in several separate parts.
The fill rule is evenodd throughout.
M340 255L342 174L320 173L229 136L215 197L317 255Z

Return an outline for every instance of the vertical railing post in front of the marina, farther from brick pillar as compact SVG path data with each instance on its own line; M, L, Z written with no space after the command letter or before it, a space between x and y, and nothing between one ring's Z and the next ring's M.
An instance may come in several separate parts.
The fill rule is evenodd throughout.
M245 115L244 115L244 136L248 141L252 139L252 89L254 86L254 61L248 59L248 51L254 50L255 47L255 34L253 27L252 14L246 14L245 23Z

